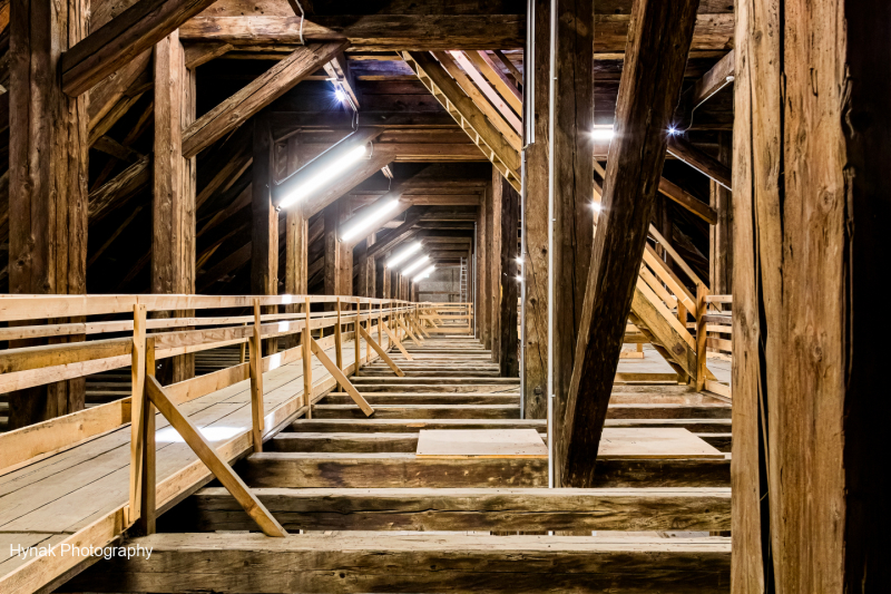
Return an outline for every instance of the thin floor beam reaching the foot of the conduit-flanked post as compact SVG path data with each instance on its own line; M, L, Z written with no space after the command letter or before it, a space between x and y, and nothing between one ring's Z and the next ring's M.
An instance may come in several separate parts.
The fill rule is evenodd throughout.
M365 419L355 405L316 405L316 419ZM375 419L519 419L519 405L380 405Z

